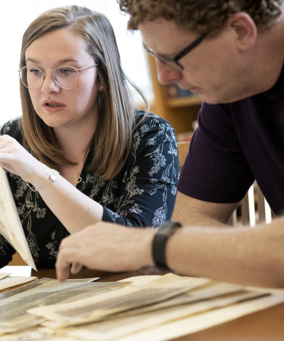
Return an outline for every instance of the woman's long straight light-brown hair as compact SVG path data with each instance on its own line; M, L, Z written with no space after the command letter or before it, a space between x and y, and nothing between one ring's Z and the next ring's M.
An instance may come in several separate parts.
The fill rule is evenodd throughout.
M140 91L121 67L115 34L104 14L82 6L62 6L40 14L26 29L22 38L20 68L26 65L27 47L47 32L68 28L83 38L97 63L98 82L104 91L99 96L98 125L88 150L93 152L88 171L103 179L112 179L123 167L131 150L135 128L135 109L128 84ZM60 150L51 127L36 114L28 89L20 82L22 132L24 146L33 156L51 168L75 163ZM146 104L147 109L147 104ZM86 153L87 151L86 150Z

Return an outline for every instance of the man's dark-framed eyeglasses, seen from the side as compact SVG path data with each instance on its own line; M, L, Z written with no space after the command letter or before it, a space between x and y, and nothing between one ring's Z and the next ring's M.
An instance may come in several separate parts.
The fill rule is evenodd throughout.
M194 40L190 45L188 45L184 50L179 52L174 58L167 57L167 56L159 56L154 54L153 50L151 50L146 43L143 41L143 47L144 49L149 52L151 56L158 59L163 64L166 64L170 66L175 71L182 71L184 67L178 63L180 58L184 57L187 53L189 53L191 50L193 50L197 45L201 43L201 41L208 35L209 32L203 33L200 37L198 37L196 40Z

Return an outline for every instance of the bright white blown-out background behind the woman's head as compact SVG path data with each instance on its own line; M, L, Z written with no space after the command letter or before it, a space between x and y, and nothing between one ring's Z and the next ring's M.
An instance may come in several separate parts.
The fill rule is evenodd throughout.
M139 32L127 31L128 16L120 13L116 0L1 0L0 6L0 125L21 115L18 66L22 35L41 12L69 4L84 5L107 15L114 27L126 74L152 100L142 38ZM52 48L52 46L51 46Z

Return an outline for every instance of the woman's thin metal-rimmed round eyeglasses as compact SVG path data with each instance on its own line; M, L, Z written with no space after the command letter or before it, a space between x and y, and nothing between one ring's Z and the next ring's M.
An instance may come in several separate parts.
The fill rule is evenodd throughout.
M22 84L31 90L39 89L45 79L45 72L53 74L55 83L62 89L73 89L79 82L79 71L92 68L98 64L87 66L86 68L76 69L73 66L59 66L53 71L42 71L35 66L24 66L19 71Z

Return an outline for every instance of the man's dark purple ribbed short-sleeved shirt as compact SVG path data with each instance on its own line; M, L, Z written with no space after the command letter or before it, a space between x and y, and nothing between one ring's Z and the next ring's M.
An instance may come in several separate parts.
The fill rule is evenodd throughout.
M272 89L242 101L202 104L178 190L240 201L256 179L276 215L284 211L284 69ZM283 213L283 212L282 212Z

